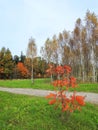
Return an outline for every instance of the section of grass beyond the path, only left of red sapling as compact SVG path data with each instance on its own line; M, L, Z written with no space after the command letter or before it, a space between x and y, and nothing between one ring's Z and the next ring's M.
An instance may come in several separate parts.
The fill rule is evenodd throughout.
M35 88L35 89L53 89L50 85L50 79L35 79L34 84L31 80L0 80L0 86L11 88Z

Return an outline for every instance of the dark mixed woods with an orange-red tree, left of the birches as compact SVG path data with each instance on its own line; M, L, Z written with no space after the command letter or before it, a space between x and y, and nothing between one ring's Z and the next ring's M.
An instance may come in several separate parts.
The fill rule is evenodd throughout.
M48 64L41 57L33 59L34 78L45 77ZM0 50L0 79L31 78L32 59L21 55L12 56L11 51L5 47Z

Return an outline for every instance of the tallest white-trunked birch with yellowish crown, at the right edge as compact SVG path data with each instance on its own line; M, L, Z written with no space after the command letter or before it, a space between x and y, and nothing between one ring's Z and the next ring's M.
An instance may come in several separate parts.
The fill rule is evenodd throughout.
M96 81L96 39L95 29L98 25L98 18L94 13L87 11L86 13L86 30L87 30L87 42L89 44L90 62L92 65L92 81Z

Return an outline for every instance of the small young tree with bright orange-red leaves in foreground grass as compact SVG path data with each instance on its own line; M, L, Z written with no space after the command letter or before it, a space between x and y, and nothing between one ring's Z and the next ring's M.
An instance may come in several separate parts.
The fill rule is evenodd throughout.
M76 109L80 110L85 105L84 96L77 95L73 92L71 96L68 96L67 91L70 87L77 87L76 78L71 76L70 66L57 66L49 65L47 70L48 74L54 74L57 79L52 82L55 93L50 93L46 98L50 98L50 105L55 104L55 108L60 107L62 112L74 112Z

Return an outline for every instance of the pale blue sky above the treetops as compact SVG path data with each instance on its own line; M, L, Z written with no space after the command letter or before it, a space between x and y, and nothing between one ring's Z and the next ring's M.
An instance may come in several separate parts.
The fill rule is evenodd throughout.
M26 54L33 37L38 47L64 29L72 31L77 18L84 20L86 11L98 15L97 0L0 0L0 49L9 48L13 55Z

